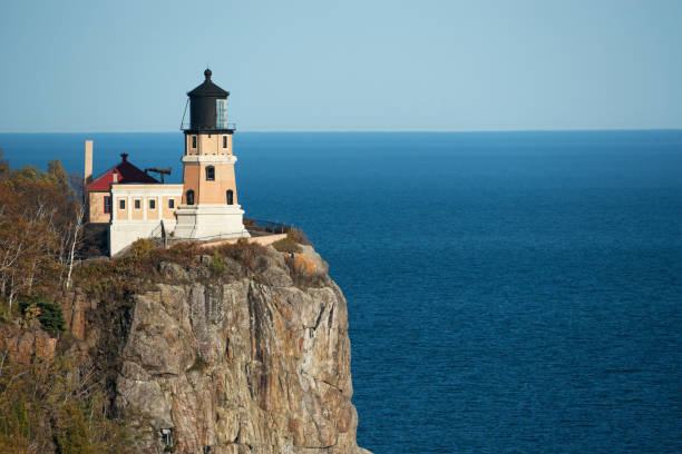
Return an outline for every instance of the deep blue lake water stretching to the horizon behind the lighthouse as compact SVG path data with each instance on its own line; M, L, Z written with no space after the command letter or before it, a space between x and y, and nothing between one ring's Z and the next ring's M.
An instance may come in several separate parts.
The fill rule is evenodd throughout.
M173 166L181 134L0 135L12 165ZM682 131L237 134L247 216L349 304L377 454L682 452Z

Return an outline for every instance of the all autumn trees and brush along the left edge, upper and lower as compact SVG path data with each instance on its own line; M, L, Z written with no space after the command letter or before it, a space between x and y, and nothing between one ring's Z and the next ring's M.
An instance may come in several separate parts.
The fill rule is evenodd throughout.
M68 346L59 303L71 284L82 233L78 181L69 181L57 160L47 171L11 169L0 156L3 335L40 326L60 336L58 346ZM99 364L67 354L12 361L0 336L0 453L120 453L128 444L125 425L110 414Z

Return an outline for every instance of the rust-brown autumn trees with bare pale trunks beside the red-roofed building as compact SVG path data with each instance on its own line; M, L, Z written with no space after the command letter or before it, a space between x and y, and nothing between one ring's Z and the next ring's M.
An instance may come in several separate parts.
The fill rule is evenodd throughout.
M0 299L6 310L18 298L55 295L70 284L84 220L77 193L58 160L47 171L0 165Z

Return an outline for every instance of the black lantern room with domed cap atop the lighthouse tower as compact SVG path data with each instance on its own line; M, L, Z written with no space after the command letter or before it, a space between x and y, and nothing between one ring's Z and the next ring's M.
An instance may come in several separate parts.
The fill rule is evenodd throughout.
M233 124L227 122L227 97L230 91L223 90L211 81L211 70L206 68L206 80L189 91L189 125L183 122L185 132L222 132L232 134ZM186 110L185 110L186 111Z

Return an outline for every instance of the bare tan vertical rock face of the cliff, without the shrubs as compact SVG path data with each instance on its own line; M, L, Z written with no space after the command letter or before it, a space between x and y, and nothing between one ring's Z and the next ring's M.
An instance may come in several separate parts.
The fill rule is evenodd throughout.
M267 250L256 276L228 283L196 278L206 256L192 269L162 263L165 283L134 296L115 406L142 434L138 452L366 452L343 295L312 247L289 265ZM292 265L318 284L295 286Z

